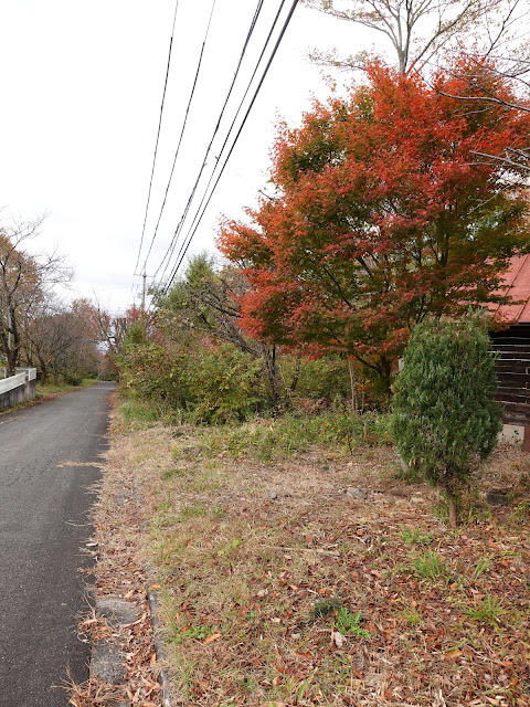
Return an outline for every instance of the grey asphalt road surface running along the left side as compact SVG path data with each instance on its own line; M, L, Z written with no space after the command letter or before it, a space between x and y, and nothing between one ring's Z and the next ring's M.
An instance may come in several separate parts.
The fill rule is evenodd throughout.
M0 418L0 706L66 707L70 671L86 679L91 490L106 449L114 383Z

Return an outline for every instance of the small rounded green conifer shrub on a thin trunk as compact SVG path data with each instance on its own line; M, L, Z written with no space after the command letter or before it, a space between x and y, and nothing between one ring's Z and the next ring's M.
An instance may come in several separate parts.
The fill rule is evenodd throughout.
M451 526L457 524L462 488L491 454L502 428L494 365L476 316L432 319L414 329L394 384L398 450L411 468L442 488Z

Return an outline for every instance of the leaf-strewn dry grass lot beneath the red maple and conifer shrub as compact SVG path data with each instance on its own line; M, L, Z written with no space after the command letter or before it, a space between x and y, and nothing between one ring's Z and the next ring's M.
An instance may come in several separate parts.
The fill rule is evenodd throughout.
M152 426L113 455L141 488L181 704L530 705L519 450L498 450L486 484L519 489L515 507L469 498L454 532L390 446L263 463Z

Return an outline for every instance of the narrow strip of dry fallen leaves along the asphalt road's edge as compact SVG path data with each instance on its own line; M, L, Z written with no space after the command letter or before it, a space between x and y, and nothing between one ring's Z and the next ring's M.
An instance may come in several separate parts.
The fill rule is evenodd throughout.
M91 644L116 643L124 656L125 679L109 685L91 677L84 684L66 685L74 707L160 707L159 666L149 618L147 573L142 553L142 514L138 504L134 469L123 453L124 442L114 436L103 465L103 484L95 506L94 538L87 551L94 556L94 590L97 599L130 602L137 620L128 625L108 623L96 611L82 616L78 636ZM67 462L66 464L73 464Z

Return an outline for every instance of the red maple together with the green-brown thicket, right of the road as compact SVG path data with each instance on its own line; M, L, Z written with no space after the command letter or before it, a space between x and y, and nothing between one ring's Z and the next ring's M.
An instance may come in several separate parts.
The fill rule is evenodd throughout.
M505 157L526 149L527 104L489 60L479 85L466 59L430 80L364 68L347 97L280 127L274 196L223 221L225 264L197 257L155 288L117 359L129 390L201 422L304 400L384 407L417 325L510 302L528 162Z

